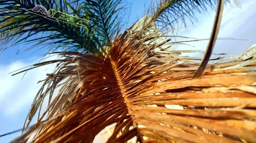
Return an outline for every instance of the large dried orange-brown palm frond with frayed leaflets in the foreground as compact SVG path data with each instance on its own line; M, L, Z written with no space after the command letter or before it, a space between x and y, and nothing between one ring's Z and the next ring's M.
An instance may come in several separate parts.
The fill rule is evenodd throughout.
M12 142L93 142L106 127L106 142L256 142L256 46L193 79L199 63L169 50L154 23L142 31L141 21L116 37L108 56L59 52L63 60L39 64L60 65Z

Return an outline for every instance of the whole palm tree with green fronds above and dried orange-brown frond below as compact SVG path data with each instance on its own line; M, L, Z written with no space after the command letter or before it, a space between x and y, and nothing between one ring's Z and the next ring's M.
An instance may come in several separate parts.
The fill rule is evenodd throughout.
M20 71L58 64L40 81L44 85L35 96L23 134L12 142L92 142L110 125L114 131L107 142L132 138L256 142L255 47L233 61L207 65L223 0L152 2L152 9L122 34L121 0L3 0L0 4L3 42L34 42L60 56ZM37 4L89 19L87 27L26 12ZM177 43L170 42L175 36L162 30L172 28L177 19L193 20L195 11L216 4L215 24L201 64L197 62L201 59L180 54L197 51L170 50ZM39 33L44 35L30 39ZM48 105L44 111L43 103ZM29 126L33 117L37 121Z

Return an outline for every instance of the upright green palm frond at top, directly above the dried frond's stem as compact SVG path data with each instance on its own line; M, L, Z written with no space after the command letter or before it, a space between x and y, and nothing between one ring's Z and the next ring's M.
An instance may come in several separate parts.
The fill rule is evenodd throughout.
M112 40L121 27L121 17L118 5L121 0L89 0L84 1L86 15L90 17L89 24L93 25L92 31L101 39L104 45L110 46Z

